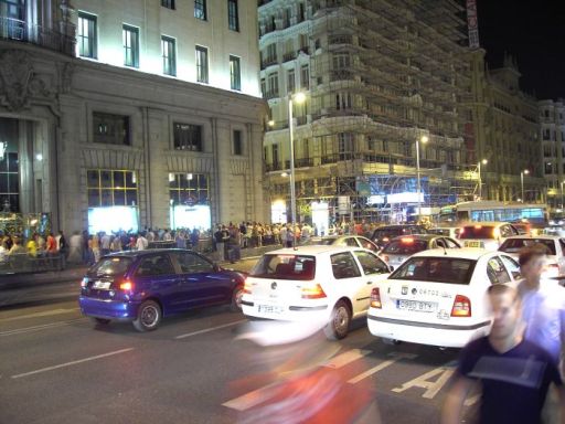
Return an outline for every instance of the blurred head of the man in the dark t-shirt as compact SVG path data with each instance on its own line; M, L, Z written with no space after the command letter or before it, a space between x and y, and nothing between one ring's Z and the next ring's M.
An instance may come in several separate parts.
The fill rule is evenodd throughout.
M521 326L521 300L518 290L504 284L490 286L488 289L492 308L492 328L490 337L507 339L513 337Z

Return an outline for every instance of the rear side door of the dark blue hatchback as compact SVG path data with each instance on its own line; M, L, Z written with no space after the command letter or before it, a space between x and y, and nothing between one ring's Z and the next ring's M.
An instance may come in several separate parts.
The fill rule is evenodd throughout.
M134 274L134 284L142 287L148 297L161 301L163 315L182 309L180 279L167 253L143 256Z

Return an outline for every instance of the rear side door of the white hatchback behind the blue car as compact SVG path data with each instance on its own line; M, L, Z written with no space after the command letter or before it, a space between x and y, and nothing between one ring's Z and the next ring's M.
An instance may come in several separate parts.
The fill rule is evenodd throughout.
M367 295L366 283L351 252L331 255L331 271L335 278L335 293L338 296L348 296L351 299L353 316L366 310L363 306L369 306L371 290Z

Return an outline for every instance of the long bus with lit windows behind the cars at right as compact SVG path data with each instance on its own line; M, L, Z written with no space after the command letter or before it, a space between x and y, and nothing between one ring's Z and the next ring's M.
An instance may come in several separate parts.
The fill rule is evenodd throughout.
M444 206L439 211L439 222L462 224L466 222L529 222L542 227L547 224L546 204L503 203L497 201L461 202Z

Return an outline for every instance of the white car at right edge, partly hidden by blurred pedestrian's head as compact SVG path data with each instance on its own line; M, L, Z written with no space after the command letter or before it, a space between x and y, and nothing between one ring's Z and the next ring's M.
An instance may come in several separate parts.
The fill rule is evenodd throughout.
M534 244L542 244L547 248L547 263L544 276L547 278L565 276L565 239L558 235L539 235L535 237L516 235L507 239L499 247L499 251L508 253L518 259L522 248L533 246Z

